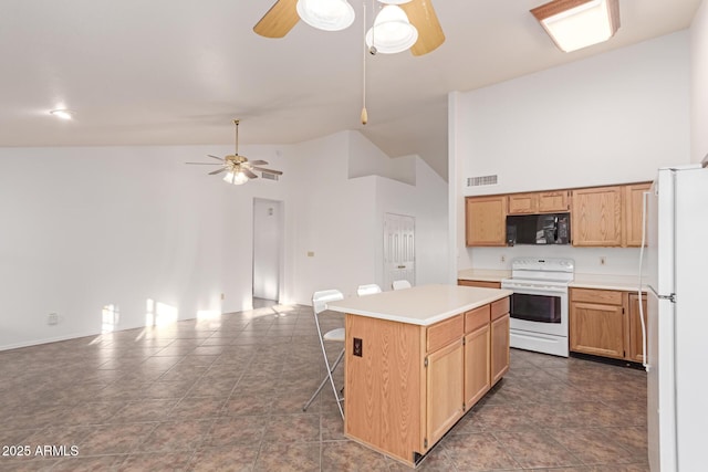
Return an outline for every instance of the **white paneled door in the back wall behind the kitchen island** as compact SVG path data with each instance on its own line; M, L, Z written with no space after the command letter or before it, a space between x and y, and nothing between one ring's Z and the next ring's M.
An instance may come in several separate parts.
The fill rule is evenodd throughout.
M416 284L416 219L403 214L384 216L384 290L393 281Z

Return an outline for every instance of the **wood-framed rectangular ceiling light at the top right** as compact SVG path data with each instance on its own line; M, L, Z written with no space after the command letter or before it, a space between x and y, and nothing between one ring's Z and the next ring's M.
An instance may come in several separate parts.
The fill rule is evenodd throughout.
M620 28L618 0L553 0L531 10L564 52L607 41Z

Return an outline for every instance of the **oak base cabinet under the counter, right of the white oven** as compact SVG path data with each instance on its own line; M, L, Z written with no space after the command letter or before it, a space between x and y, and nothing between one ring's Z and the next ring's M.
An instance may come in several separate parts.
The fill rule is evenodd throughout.
M571 289L570 300L571 352L642 361L638 294ZM646 308L646 295L643 303Z

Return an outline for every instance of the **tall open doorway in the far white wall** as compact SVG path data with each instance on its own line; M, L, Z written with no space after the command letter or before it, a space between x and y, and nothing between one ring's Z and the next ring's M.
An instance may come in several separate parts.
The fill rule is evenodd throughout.
M278 302L283 253L283 202L253 199L253 305Z

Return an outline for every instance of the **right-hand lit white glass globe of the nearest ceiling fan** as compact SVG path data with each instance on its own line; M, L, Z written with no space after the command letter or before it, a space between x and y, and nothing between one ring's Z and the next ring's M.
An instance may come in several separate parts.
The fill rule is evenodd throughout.
M366 32L366 45L377 52L395 54L406 51L418 41L418 30L410 24L406 12L395 4L385 6Z

